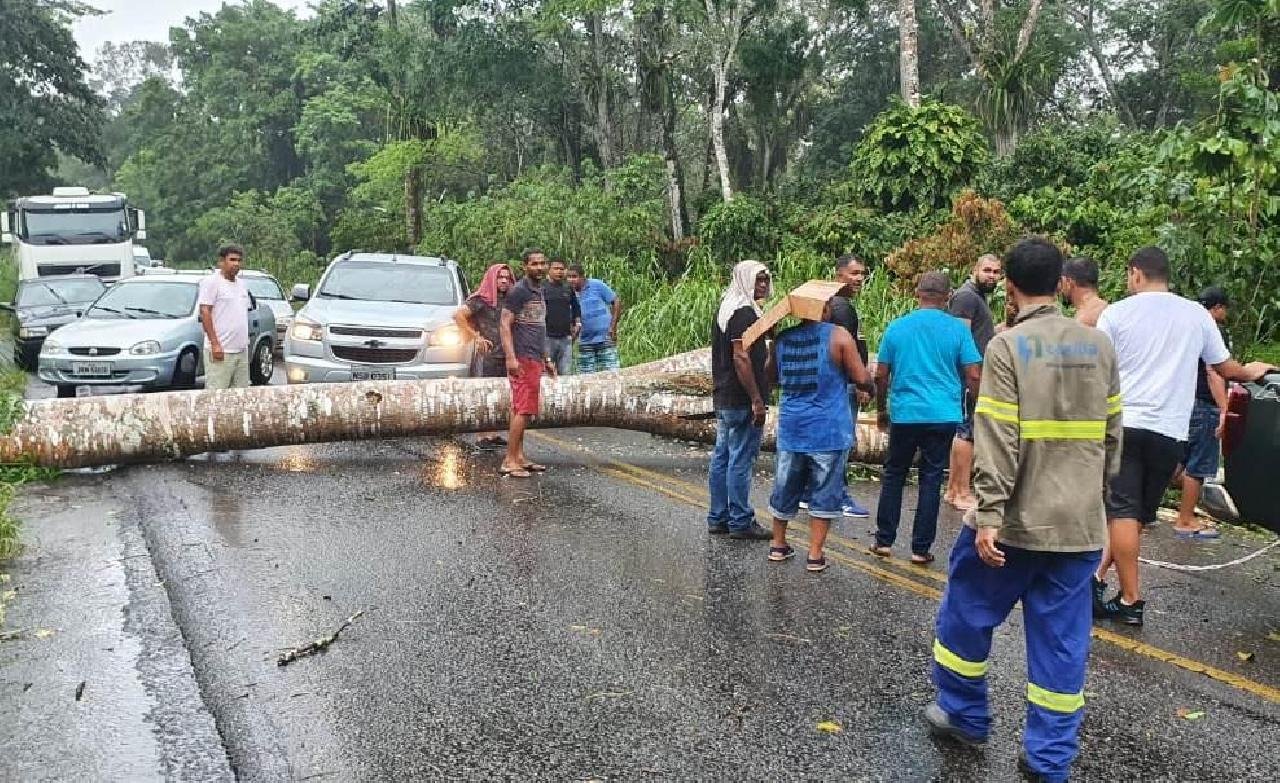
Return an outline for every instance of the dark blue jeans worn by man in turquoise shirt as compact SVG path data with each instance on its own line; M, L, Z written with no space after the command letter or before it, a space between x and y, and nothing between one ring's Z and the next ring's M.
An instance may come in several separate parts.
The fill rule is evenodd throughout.
M942 472L951 455L954 423L890 425L888 455L884 459L884 477L881 484L879 507L876 509L876 544L892 546L897 537L897 522L902 516L902 487L906 473L920 453L920 494L915 504L915 523L911 526L911 551L929 554L938 535L938 507L942 499Z

